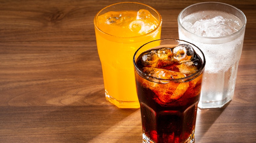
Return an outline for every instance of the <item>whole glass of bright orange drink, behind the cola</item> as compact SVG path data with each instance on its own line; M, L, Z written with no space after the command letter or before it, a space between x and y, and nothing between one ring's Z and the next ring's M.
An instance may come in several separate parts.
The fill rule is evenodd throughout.
M147 5L124 2L100 10L94 19L106 99L119 108L139 108L133 54L160 39L162 18Z

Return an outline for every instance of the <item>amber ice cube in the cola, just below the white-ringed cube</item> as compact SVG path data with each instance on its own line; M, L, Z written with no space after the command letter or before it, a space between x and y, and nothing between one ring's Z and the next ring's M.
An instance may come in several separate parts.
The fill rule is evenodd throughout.
M177 67L179 68L181 73L189 74L189 75L198 71L197 67L191 61L190 62L184 62L184 63L178 65Z

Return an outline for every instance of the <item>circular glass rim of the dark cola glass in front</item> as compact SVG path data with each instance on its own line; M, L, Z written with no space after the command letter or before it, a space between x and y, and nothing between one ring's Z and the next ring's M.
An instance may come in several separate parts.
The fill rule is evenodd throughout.
M198 71L192 73L192 74L189 75L189 76L182 77L182 78L177 78L177 79L162 79L162 78L157 78L157 77L148 75L148 74L146 74L145 72L141 71L141 70L139 69L139 67L137 66L136 61L135 61L135 58L136 58L137 53L138 53L139 50L140 50L143 46L145 46L146 44L151 43L151 42L154 42L154 41L160 41L160 40L176 40L176 41L182 41L182 42L191 44L192 46L195 46L195 47L202 53L202 55L203 55L203 59L202 59L202 57L200 57L200 58L202 59L202 61L203 61L203 64L202 64L202 66L200 67L200 69L198 69ZM152 48L154 48L154 47L152 47ZM193 49L194 49L194 48L193 48ZM143 52L144 52L144 51L143 51ZM140 46L139 49L135 52L135 54L134 54L134 56L133 56L133 65L134 65L134 67L136 68L137 71L139 71L139 72L142 73L144 76L147 76L147 77L149 77L149 78L151 78L151 79L160 80L160 81L167 81L167 82L188 82L188 81L191 81L192 79L194 79L194 78L192 78L192 77L194 77L195 75L198 75L198 76L199 76L199 75L201 74L201 72L203 71L203 69L204 69L204 67L205 67L205 62L206 62L206 60L205 60L205 56L204 56L204 54L203 54L203 51L202 51L200 48L198 48L196 45L194 45L194 44L192 44L192 43L190 43L190 42L187 42L187 41L185 41L185 40L170 39L170 38L158 39L158 40L153 40L153 41L147 42L147 43L143 44L142 46ZM143 78L143 77L142 77L142 78ZM190 79L190 78L192 78L192 79Z

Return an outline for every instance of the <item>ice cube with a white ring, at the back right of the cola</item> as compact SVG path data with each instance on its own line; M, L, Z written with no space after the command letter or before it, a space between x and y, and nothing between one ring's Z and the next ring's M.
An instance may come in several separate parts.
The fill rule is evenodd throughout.
M180 63L190 61L194 57L194 50L188 44L180 44L173 48L173 58Z

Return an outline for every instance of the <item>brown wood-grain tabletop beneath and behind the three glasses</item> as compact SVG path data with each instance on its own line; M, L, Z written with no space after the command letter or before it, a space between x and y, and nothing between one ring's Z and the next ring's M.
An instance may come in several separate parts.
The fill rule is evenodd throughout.
M0 142L141 143L139 109L105 100L93 18L121 0L0 0ZM179 12L203 0L138 0L178 38ZM199 110L198 143L256 142L256 1L219 0L247 18L234 100Z

